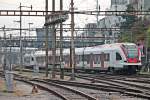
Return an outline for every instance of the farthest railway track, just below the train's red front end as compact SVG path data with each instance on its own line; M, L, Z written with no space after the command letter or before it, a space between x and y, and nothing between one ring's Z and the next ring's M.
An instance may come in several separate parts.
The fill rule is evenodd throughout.
M88 76L88 77L93 78L93 79L98 79L98 81L106 80L106 81L111 81L111 83L114 82L114 83L133 86L133 87L136 87L136 88L150 90L150 87L149 87L150 86L150 80L149 80L149 78L138 77L138 76L136 76L136 75L134 75L134 76L123 76L123 75L110 76L110 75L105 75L105 76L101 77L101 76L91 75L91 76Z

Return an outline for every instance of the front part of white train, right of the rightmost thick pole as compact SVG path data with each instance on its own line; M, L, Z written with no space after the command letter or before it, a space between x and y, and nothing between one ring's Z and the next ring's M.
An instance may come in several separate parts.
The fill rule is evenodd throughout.
M133 43L105 44L76 49L76 66L87 69L135 73L141 66L141 53Z

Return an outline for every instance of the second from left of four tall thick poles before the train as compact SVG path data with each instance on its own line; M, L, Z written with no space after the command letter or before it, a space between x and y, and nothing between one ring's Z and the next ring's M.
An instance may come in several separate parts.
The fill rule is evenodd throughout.
M52 11L55 11L55 0L52 0ZM54 12L53 12L54 13ZM52 16L52 19L55 16ZM55 67L56 67L56 29L55 24L52 25L52 58L53 58L53 68L52 68L52 78L56 77Z

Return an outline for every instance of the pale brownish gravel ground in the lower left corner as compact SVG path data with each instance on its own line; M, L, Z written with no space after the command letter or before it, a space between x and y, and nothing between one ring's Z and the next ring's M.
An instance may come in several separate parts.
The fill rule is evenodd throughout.
M0 100L60 100L55 95L38 89L32 93L32 86L22 82L14 82L14 93L7 93L3 79L0 79Z

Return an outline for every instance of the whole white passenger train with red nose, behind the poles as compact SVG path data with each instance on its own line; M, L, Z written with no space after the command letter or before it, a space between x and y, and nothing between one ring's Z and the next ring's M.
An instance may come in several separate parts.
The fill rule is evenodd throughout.
M56 51L56 63L60 53ZM49 51L49 64L52 64ZM24 56L25 66L45 66L45 51L36 51ZM70 69L70 49L63 50L63 68ZM141 67L141 52L134 43L114 43L75 49L75 69L84 71L109 71L136 73Z

